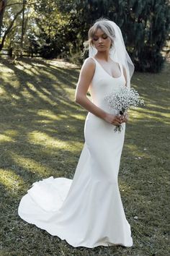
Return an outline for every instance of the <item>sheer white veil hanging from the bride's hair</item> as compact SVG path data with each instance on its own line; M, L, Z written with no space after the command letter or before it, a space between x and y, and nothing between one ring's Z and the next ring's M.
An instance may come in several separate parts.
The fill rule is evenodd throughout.
M108 20L107 22L109 22L110 25L112 25L112 27L115 30L114 46L109 51L110 58L113 61L122 63L122 65L125 67L125 71L127 74L128 88L130 88L130 80L131 80L131 77L133 76L133 72L135 69L133 61L130 59L129 54L126 51L125 43L122 38L122 32L120 30L120 27L118 27L115 22L112 22L110 20ZM92 57L95 54L97 54L97 49L94 46L89 46L89 57Z

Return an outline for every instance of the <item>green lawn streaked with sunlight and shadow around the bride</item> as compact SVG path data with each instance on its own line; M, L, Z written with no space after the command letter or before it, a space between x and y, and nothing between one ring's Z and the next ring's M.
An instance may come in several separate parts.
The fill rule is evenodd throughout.
M17 215L33 182L73 178L87 114L73 101L79 68L42 59L0 61L1 256L170 255L169 66L160 74L136 72L132 80L146 106L130 110L119 185L134 246L87 249L73 248Z

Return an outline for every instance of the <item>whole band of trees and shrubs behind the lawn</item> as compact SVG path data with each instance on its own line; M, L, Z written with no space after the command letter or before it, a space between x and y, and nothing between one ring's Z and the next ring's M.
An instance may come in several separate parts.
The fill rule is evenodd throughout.
M1 0L0 51L82 62L87 32L99 17L120 26L135 70L161 70L162 51L169 51L168 0Z

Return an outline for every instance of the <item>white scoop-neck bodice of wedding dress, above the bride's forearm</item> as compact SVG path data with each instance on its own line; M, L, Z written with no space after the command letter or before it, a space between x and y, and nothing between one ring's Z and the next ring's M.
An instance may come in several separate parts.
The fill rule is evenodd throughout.
M94 59L94 57L92 57ZM104 98L113 92L113 90L119 90L120 86L125 85L125 77L123 74L122 64L119 63L120 66L120 76L112 77L108 74L99 62L94 59L96 63L96 68L94 72L94 76L91 80L91 84L89 86L89 93L91 95L92 102L102 108L104 111L112 112L109 109L107 101L104 101Z

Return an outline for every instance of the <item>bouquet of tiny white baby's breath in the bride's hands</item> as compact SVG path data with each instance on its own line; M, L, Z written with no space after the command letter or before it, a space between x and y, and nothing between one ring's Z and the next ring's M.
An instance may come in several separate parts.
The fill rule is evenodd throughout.
M123 115L129 108L135 108L139 104L144 105L144 101L140 99L140 95L134 88L127 86L120 87L120 90L115 90L104 98L109 104L110 109L115 109L117 114ZM122 125L115 127L115 132L121 132Z

